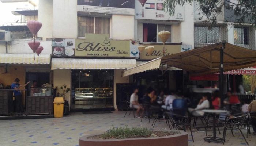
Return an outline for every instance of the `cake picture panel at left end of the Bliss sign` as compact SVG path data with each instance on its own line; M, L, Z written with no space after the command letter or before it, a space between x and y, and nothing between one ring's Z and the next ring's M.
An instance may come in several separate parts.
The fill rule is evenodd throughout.
M75 56L75 39L54 38L52 54L54 56Z

